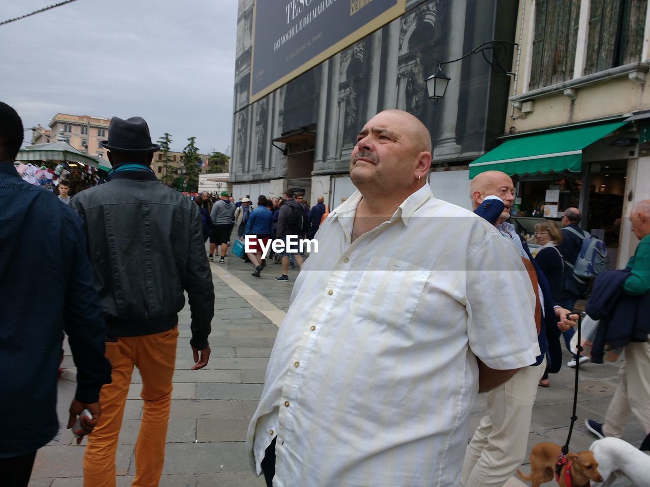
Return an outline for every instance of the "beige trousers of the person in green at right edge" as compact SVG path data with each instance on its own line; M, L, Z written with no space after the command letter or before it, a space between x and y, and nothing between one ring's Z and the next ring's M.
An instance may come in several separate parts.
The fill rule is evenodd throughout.
M625 362L618 371L621 382L605 414L605 436L623 438L625 423L632 413L650 432L650 343L631 342L625 345Z

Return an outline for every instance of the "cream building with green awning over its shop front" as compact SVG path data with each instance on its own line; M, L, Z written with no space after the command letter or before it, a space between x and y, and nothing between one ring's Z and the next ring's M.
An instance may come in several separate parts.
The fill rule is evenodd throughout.
M471 175L517 182L513 220L582 210L612 267L634 253L629 212L650 198L650 12L647 0L520 0L504 144ZM540 215L539 212L543 211Z

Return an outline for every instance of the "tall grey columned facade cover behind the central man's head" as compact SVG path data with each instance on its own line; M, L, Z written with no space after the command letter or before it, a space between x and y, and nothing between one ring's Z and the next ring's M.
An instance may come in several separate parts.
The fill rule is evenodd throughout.
M235 197L304 192L337 206L354 191L349 159L356 134L374 114L408 110L434 140L437 196L469 205L467 164L503 134L509 79L480 55L445 66L452 79L432 104L424 80L437 62L486 40L512 41L515 0L408 0L406 13L285 86L249 104L253 1L239 1L230 179ZM510 67L512 49L486 56ZM440 193L441 192L441 193Z

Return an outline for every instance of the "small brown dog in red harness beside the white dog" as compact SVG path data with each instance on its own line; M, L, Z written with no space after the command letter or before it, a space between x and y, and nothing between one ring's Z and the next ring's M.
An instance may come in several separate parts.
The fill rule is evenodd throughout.
M562 447L555 443L538 443L530 451L530 475L524 475L517 470L519 477L530 481L530 487L539 487L540 484L550 482L555 478L555 466ZM560 472L560 487L584 487L589 481L603 482L603 477L598 473L598 462L593 458L590 450L578 453L567 453L567 464L562 466ZM571 485L564 481L564 471L571 464Z

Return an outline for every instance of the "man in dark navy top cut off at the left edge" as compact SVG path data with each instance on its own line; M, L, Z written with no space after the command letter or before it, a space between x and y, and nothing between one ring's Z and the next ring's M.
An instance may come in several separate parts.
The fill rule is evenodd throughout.
M77 366L68 428L84 409L90 433L110 382L105 325L81 220L57 197L22 181L12 164L23 142L16 111L0 102L0 479L26 486L36 450L59 429L57 368L63 332ZM77 443L81 442L81 438Z

